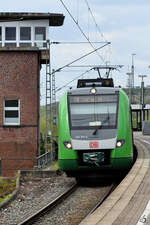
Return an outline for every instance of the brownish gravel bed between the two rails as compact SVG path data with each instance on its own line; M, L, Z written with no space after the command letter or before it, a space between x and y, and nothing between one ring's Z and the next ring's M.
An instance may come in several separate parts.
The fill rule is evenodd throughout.
M79 187L34 225L78 225L108 190L110 186Z

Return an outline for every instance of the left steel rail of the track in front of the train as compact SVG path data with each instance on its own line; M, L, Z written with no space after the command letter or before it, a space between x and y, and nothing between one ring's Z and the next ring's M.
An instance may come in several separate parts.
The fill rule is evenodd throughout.
M33 215L30 215L29 217L25 218L23 221L18 223L18 225L25 225L25 224L33 224L35 221L38 220L41 216L52 210L54 207L56 207L60 202L62 202L64 199L66 199L69 195L71 195L76 189L78 188L77 183L73 184L70 189L63 192L61 195L59 195L57 198L55 198L53 201L45 205L43 208L38 210Z

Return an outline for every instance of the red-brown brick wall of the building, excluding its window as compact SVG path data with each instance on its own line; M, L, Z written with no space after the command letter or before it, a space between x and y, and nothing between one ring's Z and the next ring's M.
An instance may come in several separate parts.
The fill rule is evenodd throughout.
M1 175L35 165L38 149L38 52L0 51ZM4 126L4 99L20 99L20 126Z

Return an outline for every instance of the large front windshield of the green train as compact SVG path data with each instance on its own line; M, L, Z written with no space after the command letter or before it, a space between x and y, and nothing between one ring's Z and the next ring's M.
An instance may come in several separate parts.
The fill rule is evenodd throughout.
M69 96L72 128L116 128L118 95Z

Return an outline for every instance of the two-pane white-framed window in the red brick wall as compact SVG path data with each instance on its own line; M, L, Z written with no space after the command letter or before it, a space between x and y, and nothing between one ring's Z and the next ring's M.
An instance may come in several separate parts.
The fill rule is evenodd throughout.
M20 100L4 100L4 125L20 125Z

